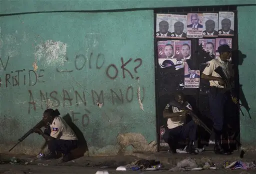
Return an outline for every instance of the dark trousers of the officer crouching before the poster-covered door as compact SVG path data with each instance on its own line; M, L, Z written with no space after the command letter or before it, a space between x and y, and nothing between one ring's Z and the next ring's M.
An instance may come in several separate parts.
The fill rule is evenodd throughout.
M173 143L186 140L187 137L189 141L196 141L196 130L197 125L193 120L191 120L188 123L173 129L166 128L162 138L169 145L169 147L172 147Z

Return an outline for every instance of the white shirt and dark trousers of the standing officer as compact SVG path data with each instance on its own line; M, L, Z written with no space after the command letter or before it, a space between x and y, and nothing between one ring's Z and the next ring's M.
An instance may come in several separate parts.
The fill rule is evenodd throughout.
M232 64L228 61L224 62L220 58L210 60L203 70L203 74L210 75L213 77L220 77L214 69L220 66L227 79L233 77ZM220 141L220 135L223 128L224 122L224 105L229 102L230 89L224 88L219 85L218 81L209 80L210 92L209 92L209 107L210 114L213 121L213 129L215 132L215 141Z

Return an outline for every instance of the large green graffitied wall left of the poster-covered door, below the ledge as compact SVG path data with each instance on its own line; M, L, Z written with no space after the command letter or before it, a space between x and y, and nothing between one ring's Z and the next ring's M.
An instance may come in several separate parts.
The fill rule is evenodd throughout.
M115 154L118 133L156 140L151 10L4 16L0 26L1 151L40 121L46 102L70 114L90 153ZM13 152L42 143L30 135Z

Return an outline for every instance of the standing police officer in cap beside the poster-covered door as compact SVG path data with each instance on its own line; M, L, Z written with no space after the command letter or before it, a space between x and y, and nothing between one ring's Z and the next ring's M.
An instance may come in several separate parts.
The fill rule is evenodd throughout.
M210 60L202 72L201 78L209 80L209 106L210 114L213 121L213 129L215 133L215 154L229 155L230 152L225 151L220 143L220 136L223 130L224 122L224 105L230 102L230 89L226 88L226 84L221 77L214 71L220 66L227 79L233 78L232 65L227 60L231 56L231 49L228 45L221 45L218 47L219 58Z

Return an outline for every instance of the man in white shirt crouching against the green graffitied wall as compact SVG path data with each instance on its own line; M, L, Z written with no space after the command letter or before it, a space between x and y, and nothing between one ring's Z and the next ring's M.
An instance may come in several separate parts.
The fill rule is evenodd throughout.
M42 160L56 159L56 153L62 153L61 162L67 162L71 160L70 151L77 148L78 139L75 133L59 115L57 109L55 111L46 109L42 120L45 124L49 124L48 129L45 129L44 132L40 129L34 130L47 141L49 154L41 158Z

